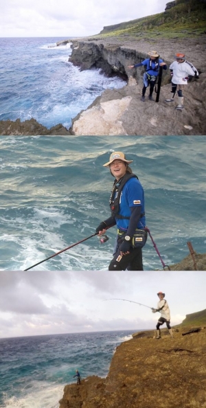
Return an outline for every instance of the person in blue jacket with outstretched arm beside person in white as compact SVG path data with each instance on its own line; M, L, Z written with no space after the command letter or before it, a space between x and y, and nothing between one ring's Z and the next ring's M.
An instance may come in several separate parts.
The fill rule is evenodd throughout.
M150 85L150 93L148 95L149 100L153 100L152 93L155 88L155 84L157 82L157 76L159 74L159 67L163 67L163 69L167 69L167 65L163 62L161 58L159 58L159 54L157 51L150 51L148 53L150 58L142 61L142 63L135 64L135 65L128 65L128 68L137 68L144 65L146 67L146 72L143 76L144 87L142 89L141 101L145 101L145 93L147 87Z

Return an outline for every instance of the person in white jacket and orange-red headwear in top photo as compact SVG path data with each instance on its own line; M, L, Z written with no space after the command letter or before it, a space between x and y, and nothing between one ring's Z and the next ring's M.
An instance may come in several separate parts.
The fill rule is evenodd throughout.
M185 54L176 54L176 60L170 65L170 73L172 76L172 98L166 99L165 102L174 102L174 96L178 94L178 105L176 109L184 109L183 106L183 87L187 84L187 80L192 76L198 78L198 70L185 60Z

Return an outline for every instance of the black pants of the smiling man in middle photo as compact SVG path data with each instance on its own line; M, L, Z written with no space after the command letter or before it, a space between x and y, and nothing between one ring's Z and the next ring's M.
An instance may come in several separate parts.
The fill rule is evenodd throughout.
M141 248L130 248L128 255L120 256L119 245L122 239L117 240L117 249L115 251L113 260L108 266L109 271L143 271L142 251Z

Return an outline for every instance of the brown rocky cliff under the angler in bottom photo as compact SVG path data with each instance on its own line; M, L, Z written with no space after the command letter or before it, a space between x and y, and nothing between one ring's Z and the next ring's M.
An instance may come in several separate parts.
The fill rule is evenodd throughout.
M106 378L66 385L60 408L205 408L206 328L138 333L117 347Z

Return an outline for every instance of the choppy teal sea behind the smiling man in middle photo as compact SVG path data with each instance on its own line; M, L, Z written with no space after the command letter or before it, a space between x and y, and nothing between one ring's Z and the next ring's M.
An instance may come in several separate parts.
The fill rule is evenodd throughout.
M165 264L206 252L205 136L1 136L0 269L25 270L95 233L108 218L115 150L133 160L144 187L146 224ZM116 229L31 269L106 271ZM148 238L144 269L162 269Z

